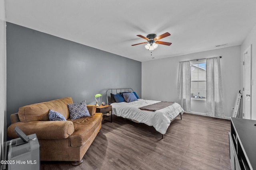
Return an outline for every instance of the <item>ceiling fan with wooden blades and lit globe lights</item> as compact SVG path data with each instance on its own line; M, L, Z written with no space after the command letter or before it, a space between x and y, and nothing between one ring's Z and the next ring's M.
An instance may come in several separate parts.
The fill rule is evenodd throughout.
M148 34L147 37L144 37L142 35L137 35L138 37L141 37L143 39L146 39L148 42L144 42L144 43L138 43L138 44L134 44L134 45L140 45L140 44L146 44L145 48L148 50L154 50L158 47L158 44L162 44L162 45L171 45L172 43L168 43L168 42L163 42L163 41L158 41L159 39L162 39L164 37L168 37L171 34L166 32L162 35L159 35L158 37L156 37L156 34ZM134 46L132 45L132 46Z

